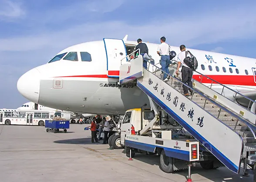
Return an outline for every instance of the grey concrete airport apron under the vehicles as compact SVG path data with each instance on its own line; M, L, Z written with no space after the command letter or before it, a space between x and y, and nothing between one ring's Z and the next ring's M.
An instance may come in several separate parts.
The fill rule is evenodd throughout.
M187 170L167 174L159 156L136 154L128 161L122 149L91 144L88 124L71 124L67 133L47 133L44 127L0 126L0 182L185 182ZM241 170L243 171L243 169ZM192 167L194 182L253 182L226 168Z

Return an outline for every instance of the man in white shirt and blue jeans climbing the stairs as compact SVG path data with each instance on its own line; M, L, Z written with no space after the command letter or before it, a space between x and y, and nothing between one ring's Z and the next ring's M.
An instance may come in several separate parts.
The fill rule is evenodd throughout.
M167 75L170 74L168 69L170 64L170 46L167 43L165 43L165 40L165 37L161 37L161 44L157 48L157 53L161 56L160 65L162 66L163 70L163 80L168 81L168 79L170 78L170 76Z

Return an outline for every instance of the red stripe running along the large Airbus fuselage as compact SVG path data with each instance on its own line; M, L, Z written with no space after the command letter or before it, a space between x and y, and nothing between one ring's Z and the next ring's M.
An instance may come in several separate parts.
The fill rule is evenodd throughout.
M117 72L116 72L117 73ZM116 74L115 74L116 75ZM118 75L119 76L119 71ZM212 78L215 81L218 81L221 84L230 84L230 85L245 85L245 86L256 86L256 83L254 82L254 76L253 75L205 75L210 78ZM73 76L59 76L54 78L108 78L108 75L73 75ZM193 78L199 82L202 83L212 83L212 80L207 79L206 77L203 77L202 75L193 75ZM216 82L213 82L213 84L216 84Z

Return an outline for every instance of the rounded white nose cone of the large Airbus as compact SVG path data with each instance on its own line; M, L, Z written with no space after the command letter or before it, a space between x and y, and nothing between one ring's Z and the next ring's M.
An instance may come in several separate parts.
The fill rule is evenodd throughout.
M17 81L17 89L29 101L38 103L40 90L40 72L33 68Z

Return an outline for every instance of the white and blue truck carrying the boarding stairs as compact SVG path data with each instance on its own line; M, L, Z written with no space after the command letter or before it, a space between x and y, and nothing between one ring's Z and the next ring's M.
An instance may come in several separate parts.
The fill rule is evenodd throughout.
M153 103L152 100L150 102ZM135 153L160 155L160 168L167 173L189 169L190 175L190 167L195 162L199 162L204 169L224 166L160 108L127 110L119 137L126 156L131 159Z

